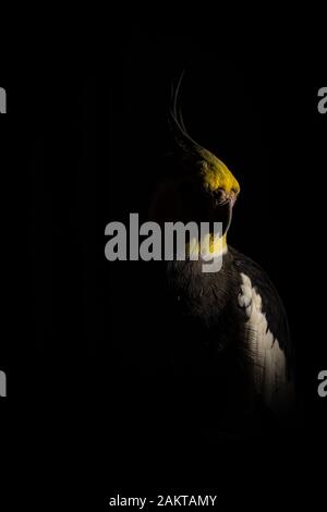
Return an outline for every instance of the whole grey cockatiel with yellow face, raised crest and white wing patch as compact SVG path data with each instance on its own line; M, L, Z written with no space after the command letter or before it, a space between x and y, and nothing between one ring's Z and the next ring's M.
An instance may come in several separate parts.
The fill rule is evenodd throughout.
M190 241L186 260L167 264L173 314L187 326L185 331L197 337L198 346L207 346L208 371L217 373L220 395L226 390L222 423L230 420L228 416L255 415L257 410L283 417L294 400L286 312L268 276L227 243L240 185L221 160L187 134L178 109L180 83L170 112L177 171L158 185L152 217L159 222L222 222L222 235L210 239L210 251L222 257L222 267L204 273L201 255L190 259L193 252L201 252L201 242ZM184 341L182 359L187 359L187 350ZM193 355L198 364L202 353Z

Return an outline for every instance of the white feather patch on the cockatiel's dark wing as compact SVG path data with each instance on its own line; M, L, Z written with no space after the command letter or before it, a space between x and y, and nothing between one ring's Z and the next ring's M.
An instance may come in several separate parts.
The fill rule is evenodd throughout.
M241 273L239 306L246 313L244 354L256 392L271 409L283 409L292 394L287 377L286 356L269 330L262 310L262 297L251 279Z

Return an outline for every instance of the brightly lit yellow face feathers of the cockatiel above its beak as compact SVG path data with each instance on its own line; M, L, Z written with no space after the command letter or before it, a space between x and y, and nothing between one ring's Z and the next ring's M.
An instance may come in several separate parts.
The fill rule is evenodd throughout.
M201 148L198 154L201 156L201 176L206 191L211 193L221 190L234 200L240 192L240 185L228 167L205 148Z

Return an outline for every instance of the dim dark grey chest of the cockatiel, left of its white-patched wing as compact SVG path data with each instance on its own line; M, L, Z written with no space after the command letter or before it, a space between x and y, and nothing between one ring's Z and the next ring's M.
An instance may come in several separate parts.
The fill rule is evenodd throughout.
M183 357L217 370L223 349L237 346L242 336L238 285L227 269L219 276L205 275L193 264L197 261L168 269L171 330Z

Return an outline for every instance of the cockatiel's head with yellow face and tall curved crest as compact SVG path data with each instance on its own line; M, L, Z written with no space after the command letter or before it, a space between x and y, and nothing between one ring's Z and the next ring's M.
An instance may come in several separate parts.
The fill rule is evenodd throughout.
M181 78L182 80L182 78ZM187 133L179 108L181 80L172 95L170 127L177 143L173 175L161 183L155 205L159 219L184 223L221 222L222 243L231 223L240 185L228 167ZM220 243L220 242L219 242Z

